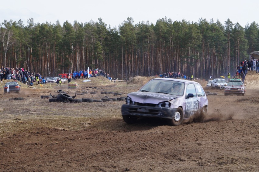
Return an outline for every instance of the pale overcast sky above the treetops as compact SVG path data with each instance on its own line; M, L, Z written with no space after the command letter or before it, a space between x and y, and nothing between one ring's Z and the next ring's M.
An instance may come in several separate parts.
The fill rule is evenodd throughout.
M254 7L259 5L257 0L13 0L7 2L0 0L0 23L4 20L18 21L24 25L27 20L34 19L35 23L51 22L60 24L67 20L72 25L74 21L89 22L102 21L118 27L132 17L134 24L141 21L155 24L164 17L172 21L185 19L190 22L199 22L199 19L217 19L224 25L229 18L231 22L239 23L245 27L247 23L259 23L259 11Z

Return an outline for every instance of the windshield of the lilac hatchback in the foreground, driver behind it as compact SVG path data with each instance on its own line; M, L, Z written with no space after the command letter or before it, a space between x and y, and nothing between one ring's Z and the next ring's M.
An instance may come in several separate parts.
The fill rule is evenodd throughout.
M183 82L154 79L144 85L140 91L182 96L184 88L185 83Z

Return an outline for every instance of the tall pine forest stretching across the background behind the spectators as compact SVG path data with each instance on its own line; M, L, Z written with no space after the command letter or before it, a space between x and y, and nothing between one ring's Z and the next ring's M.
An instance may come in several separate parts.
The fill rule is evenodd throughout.
M158 19L155 24L128 17L111 28L101 18L79 23L4 20L0 25L0 65L23 67L43 76L102 69L114 78L180 72L209 79L231 76L237 64L259 51L259 27L213 19L199 22Z

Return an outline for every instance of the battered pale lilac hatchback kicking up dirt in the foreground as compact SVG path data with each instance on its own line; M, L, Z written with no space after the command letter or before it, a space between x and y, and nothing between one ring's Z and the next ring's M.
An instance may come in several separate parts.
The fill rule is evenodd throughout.
M129 93L121 112L126 123L135 123L137 118L155 117L166 119L169 125L177 126L199 110L206 113L207 108L208 99L199 83L156 78L139 91Z

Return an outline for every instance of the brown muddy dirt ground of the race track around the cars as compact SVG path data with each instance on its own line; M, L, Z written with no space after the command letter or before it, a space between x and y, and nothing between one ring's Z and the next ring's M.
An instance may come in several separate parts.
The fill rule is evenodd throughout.
M126 84L97 78L77 81L78 89L22 85L20 94L5 95L1 88L0 171L258 171L259 75L254 72L246 77L245 96L205 88L217 93L208 96L209 115L180 126L155 119L126 124L120 111L124 101L49 103L40 98L59 89L71 96L88 91L78 99L126 97L145 79ZM104 91L122 95L100 94ZM15 97L24 99L9 100Z

